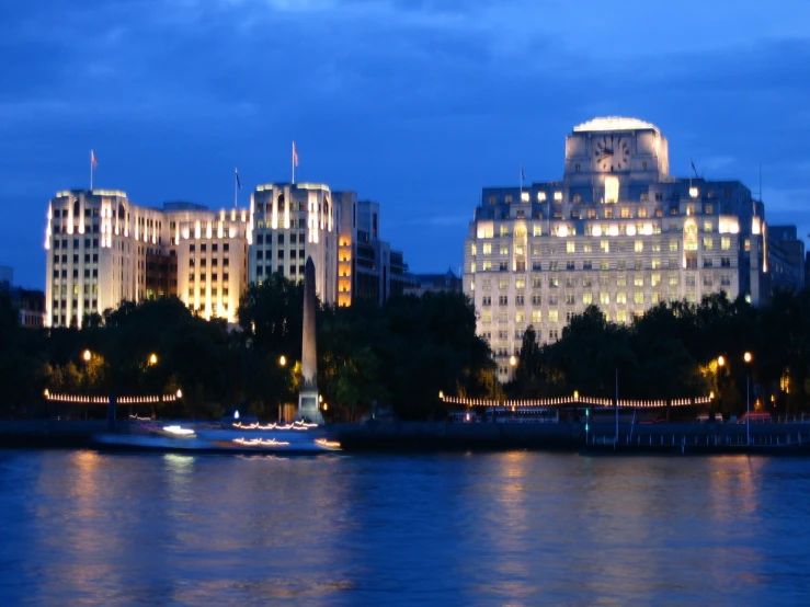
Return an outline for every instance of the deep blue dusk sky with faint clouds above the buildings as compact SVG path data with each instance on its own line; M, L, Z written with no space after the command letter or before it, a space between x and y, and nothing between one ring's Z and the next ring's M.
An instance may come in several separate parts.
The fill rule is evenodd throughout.
M242 202L289 180L356 190L417 272L457 268L482 185L562 173L597 115L657 124L671 172L756 193L810 232L810 2L0 2L0 265L43 287L47 202Z

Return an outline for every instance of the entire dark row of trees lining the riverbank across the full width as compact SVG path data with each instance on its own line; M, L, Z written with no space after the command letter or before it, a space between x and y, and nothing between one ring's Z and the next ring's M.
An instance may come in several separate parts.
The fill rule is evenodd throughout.
M179 299L125 302L88 317L80 330L32 331L19 327L0 295L0 412L36 413L45 389L96 396L182 389L183 398L159 414L217 416L238 406L272 419L279 404L297 400L303 302L301 284L273 275L244 294L236 331L194 316ZM538 345L529 328L504 387L461 294L403 297L383 307L320 306L317 318L319 386L329 415L343 420L375 404L404 419L441 415L440 391L500 399L578 390L608 398L617 379L620 398L714 392L728 412L744 409L748 377L752 402L779 412L802 410L810 393L808 290L776 294L762 308L722 294L699 305L662 304L630 324L607 322L590 307L554 344Z

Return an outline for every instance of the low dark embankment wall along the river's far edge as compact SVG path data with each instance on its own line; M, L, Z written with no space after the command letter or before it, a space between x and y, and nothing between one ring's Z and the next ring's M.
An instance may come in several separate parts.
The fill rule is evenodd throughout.
M455 424L372 422L330 424L330 438L353 451L587 450L593 453L768 453L810 455L810 423L788 424ZM106 421L3 421L0 448L93 448ZM127 433L118 421L116 432ZM749 435L751 446L748 446Z

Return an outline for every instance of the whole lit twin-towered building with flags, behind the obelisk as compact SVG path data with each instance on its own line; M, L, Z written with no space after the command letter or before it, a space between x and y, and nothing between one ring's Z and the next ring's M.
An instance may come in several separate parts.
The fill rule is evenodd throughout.
M304 279L321 301L381 304L402 293L402 253L379 240L379 205L323 184L266 184L250 208L137 206L119 191L59 192L48 205L46 325L81 327L122 301L178 296L203 318L238 321L249 283Z

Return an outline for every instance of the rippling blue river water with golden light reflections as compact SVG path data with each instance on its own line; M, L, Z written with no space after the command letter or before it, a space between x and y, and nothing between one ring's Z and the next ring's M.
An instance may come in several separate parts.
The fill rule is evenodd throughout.
M0 604L808 605L810 460L0 451Z

